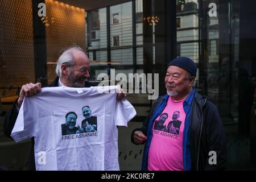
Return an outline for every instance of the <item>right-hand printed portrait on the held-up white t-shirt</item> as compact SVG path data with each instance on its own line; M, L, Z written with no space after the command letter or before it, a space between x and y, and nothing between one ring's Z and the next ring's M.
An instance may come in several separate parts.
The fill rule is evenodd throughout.
M82 115L84 120L82 120L82 131L84 133L96 132L97 131L97 117L92 116L92 110L89 106L82 107Z

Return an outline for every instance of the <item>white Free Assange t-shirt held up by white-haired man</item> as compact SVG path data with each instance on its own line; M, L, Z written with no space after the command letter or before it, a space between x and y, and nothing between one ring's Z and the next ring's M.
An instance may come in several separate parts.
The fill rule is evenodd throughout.
M136 111L116 99L116 89L42 88L24 98L11 137L15 142L34 137L36 170L119 170L117 126L127 127Z

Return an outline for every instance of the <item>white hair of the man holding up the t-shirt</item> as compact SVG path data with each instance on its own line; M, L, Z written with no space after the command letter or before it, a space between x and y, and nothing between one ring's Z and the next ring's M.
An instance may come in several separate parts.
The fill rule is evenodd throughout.
M64 49L64 52L60 55L59 59L57 60L57 66L55 69L55 72L57 74L57 76L61 77L62 75L62 71L61 71L61 65L67 63L67 64L73 64L73 51L77 50L77 51L81 51L83 53L84 50L79 47L79 46L71 46L67 49Z

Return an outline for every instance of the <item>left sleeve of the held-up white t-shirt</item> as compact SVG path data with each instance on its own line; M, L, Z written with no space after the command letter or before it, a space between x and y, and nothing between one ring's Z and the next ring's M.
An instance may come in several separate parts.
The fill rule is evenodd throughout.
M31 97L25 97L19 109L13 131L11 131L11 137L15 142L36 137L36 121L38 119L35 117L37 111Z

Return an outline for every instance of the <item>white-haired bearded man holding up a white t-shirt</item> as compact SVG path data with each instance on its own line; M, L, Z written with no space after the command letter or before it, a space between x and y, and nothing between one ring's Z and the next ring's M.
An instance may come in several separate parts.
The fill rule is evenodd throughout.
M57 60L55 80L47 85L47 87L53 86L69 86L75 88L97 86L89 81L86 81L90 77L90 61L88 56L79 46L72 46L66 49L59 59ZM22 105L24 97L34 96L41 90L40 82L36 84L25 84L19 93L19 98L15 101L13 107L6 113L4 123L4 133L7 137L10 137L11 131L15 125L16 118L19 114L19 108ZM119 93L117 99L125 97L124 93ZM34 158L34 138L32 138L31 155L29 168L35 170L35 158Z

